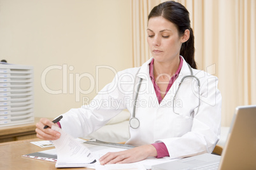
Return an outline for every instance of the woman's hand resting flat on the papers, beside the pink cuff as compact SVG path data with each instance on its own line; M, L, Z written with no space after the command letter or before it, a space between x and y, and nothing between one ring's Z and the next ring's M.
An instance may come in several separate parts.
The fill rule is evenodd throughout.
M121 152L109 152L99 159L101 165L104 164L127 164L138 162L147 157L156 157L157 150L153 145L143 145L140 147L124 150Z

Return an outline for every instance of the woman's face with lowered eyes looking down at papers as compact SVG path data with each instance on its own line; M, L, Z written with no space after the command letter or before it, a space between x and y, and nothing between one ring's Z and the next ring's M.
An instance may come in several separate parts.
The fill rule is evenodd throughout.
M180 56L183 36L172 22L162 16L148 20L148 46L157 62L171 62ZM189 35L189 34L188 34Z

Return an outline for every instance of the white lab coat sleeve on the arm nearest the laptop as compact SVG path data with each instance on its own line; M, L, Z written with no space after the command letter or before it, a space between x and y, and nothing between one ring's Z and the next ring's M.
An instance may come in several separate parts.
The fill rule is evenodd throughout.
M202 82L201 82L202 83ZM171 158L211 153L220 138L222 96L217 89L217 77L204 79L201 84L201 105L194 116L192 129L181 137L167 138L164 142ZM196 112L195 108L194 112Z

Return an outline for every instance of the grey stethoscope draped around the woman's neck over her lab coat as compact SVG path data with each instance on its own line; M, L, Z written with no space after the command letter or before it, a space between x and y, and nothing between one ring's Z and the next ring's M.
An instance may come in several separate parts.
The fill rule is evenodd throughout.
M199 92L200 92L200 81L199 81L199 79L198 79L195 75L193 75L192 68L190 67L189 64L188 64L188 68L189 68L189 70L190 70L190 75L186 75L186 76L184 76L184 77L181 79L180 84L179 84L179 86L178 86L178 89L177 89L177 91L176 91L176 93L175 93L175 95L174 95L174 98L173 98L173 112L174 112L174 114L177 114L177 115L181 115L181 114L178 114L178 113L176 113L176 112L174 111L174 101L175 101L175 99L176 99L176 95L177 95L177 93L178 93L178 91L179 91L179 89L180 89L180 86L181 86L182 82L183 82L186 78L192 78L192 79L196 79L196 80L197 80L199 105L198 105L198 107L197 107L197 112L196 112L196 114L198 113L199 106L200 106L200 93L199 93ZM140 78L140 80L139 80L138 88L137 88L136 95L135 95L135 101L134 101L134 105L133 105L133 110L132 110L132 118L131 118L130 121L129 121L129 125L130 125L130 127L131 127L132 129L137 129L137 128L139 128L139 119L138 119L137 117L135 117L135 110L136 110L136 103L137 103L137 99L138 99L139 88L141 87L141 81L142 81L142 78ZM184 115L181 115L181 116L183 116L185 119L192 119L192 118L191 118L191 114L190 114L190 117L184 116Z

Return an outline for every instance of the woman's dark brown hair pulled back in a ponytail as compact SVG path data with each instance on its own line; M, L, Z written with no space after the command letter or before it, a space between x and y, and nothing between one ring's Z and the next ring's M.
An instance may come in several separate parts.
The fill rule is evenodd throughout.
M194 48L194 34L190 27L190 19L188 10L180 3L174 1L167 1L155 6L150 14L148 20L152 17L162 16L174 23L178 29L179 35L183 36L185 30L190 31L190 37L188 41L183 42L180 49L180 55L184 57L186 62L194 69L197 69L196 62L194 59L195 48Z

